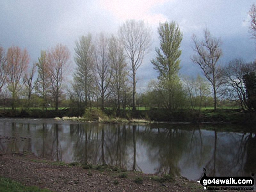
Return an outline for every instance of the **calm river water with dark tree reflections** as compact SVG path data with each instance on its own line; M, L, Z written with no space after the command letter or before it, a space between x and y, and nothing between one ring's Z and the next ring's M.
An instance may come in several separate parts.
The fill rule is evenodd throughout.
M110 164L145 173L183 175L191 180L201 178L203 167L208 175L255 173L255 133L218 130L213 125L2 119L0 151L31 151L55 161Z

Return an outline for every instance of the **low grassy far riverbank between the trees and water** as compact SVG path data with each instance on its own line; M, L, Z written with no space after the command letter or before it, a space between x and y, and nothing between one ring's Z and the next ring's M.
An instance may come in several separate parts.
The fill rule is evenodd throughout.
M89 109L86 111L76 111L72 108L55 110L42 110L42 109L28 109L28 110L0 110L0 117L4 118L63 118L63 117L82 117L81 121L98 121L99 116L94 117L92 115L96 111L100 110ZM102 113L102 111L100 112ZM118 122L130 121L131 119L144 119L147 121L164 121L164 122L212 122L212 123L231 123L231 124L255 124L256 113L249 113L241 111L240 109L218 109L218 110L203 110L201 112L197 110L184 109L176 112L167 111L164 109L150 109L150 110L137 110L135 112L121 110L119 114L116 111L106 109L103 111L104 117L102 120L105 122ZM70 119L72 120L72 119ZM74 119L73 119L74 120Z

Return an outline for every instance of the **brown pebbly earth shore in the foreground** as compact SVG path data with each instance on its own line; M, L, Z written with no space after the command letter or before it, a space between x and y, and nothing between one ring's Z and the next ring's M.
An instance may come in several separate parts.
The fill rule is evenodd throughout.
M56 192L199 192L204 191L196 182L184 178L157 182L156 175L140 172L84 169L80 166L59 165L55 162L23 153L0 154L0 176L24 185L36 185ZM140 177L143 183L137 184Z

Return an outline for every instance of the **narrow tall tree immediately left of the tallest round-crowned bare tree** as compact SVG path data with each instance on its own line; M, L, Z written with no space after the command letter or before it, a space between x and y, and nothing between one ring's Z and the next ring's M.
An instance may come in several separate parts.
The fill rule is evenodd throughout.
M123 46L114 35L109 39L109 62L113 71L112 87L116 98L117 113L119 114L122 88L125 87L128 71Z

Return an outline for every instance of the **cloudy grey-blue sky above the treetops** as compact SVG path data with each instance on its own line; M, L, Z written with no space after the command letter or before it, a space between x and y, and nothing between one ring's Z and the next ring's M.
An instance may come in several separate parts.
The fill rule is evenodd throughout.
M58 43L71 51L75 69L75 41L82 35L100 32L117 34L126 20L144 20L152 29L152 46L137 71L138 91L157 77L150 60L159 47L159 22L175 21L182 33L181 75L202 74L191 62L191 36L202 38L205 27L222 40L220 63L234 58L254 61L256 42L249 34L250 6L253 0L0 0L0 46L26 48L31 64L38 61L41 50Z

